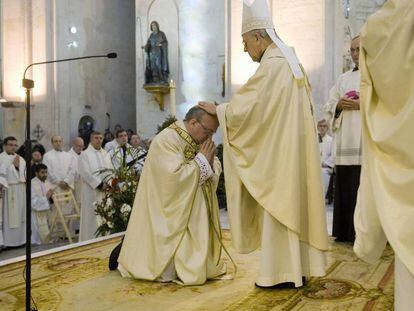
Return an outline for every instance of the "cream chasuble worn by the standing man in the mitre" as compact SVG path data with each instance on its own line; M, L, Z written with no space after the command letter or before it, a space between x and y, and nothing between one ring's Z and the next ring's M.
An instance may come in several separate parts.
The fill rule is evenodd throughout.
M328 248L325 202L310 88L275 44L228 104L223 131L227 207L235 248L259 247L264 208L301 241Z

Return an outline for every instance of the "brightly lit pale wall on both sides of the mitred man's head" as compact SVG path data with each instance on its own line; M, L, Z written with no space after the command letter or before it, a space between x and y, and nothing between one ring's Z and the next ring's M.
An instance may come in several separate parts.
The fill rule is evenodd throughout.
M231 55L230 83L234 93L248 80L258 65L243 52L243 4L238 0L229 0L229 7L231 45L228 53ZM319 118L322 114L321 106L327 100L333 72L338 66L338 57L333 50L335 33L332 30L337 23L337 6L332 0L270 0L269 8L277 33L286 44L295 48L308 74L317 108L316 117ZM339 59L341 57L339 55Z

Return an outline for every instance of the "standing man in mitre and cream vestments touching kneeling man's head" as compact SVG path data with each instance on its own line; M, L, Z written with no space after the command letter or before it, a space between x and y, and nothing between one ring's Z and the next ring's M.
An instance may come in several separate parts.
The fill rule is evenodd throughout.
M251 2L251 1L250 1ZM325 275L328 249L319 148L307 78L276 35L266 0L244 4L256 73L231 102L200 103L223 131L227 207L240 253L261 247L256 285L300 287Z

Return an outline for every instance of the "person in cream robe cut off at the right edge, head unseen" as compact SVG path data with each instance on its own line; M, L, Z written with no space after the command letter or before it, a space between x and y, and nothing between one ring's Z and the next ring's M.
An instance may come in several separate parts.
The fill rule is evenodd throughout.
M354 251L395 252L396 311L414 306L414 2L389 0L361 32L363 166Z

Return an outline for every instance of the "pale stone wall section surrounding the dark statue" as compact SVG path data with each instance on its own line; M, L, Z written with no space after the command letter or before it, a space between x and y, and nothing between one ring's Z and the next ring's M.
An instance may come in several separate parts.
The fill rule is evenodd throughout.
M170 80L176 84L176 115L200 100L223 101L222 73L225 62L225 1L222 0L136 0L136 113L143 137L155 134L157 125L171 114L168 90L160 110L145 83L146 53L142 46L157 21L168 40Z

